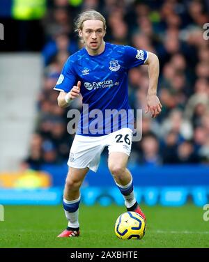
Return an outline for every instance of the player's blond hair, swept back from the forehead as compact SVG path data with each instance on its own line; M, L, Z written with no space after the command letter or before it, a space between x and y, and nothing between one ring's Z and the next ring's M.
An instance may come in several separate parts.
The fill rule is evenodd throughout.
M79 14L77 20L75 20L75 32L83 29L84 21L86 20L100 20L103 22L104 31L106 31L106 20L98 11L95 10L86 10L83 13Z

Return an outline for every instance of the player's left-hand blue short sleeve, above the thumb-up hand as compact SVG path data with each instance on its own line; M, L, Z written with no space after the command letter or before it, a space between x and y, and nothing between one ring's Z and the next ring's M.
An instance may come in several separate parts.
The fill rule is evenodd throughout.
M63 70L61 72L61 75L59 76L58 81L56 82L56 86L54 86L54 90L57 91L64 91L68 93L72 86L76 83L76 74L73 69L73 63L69 59L65 62L65 65L63 66Z

